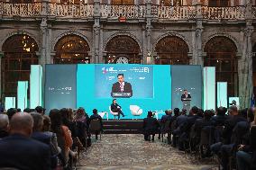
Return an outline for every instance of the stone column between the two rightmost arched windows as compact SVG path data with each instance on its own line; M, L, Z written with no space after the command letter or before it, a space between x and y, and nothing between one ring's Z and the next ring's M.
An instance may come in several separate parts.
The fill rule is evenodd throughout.
M197 9L197 26L195 31L192 34L193 37L193 56L192 56L192 64L203 66L203 58L202 58L202 32L203 32L203 24L202 24L202 13L201 13L201 3L196 4Z

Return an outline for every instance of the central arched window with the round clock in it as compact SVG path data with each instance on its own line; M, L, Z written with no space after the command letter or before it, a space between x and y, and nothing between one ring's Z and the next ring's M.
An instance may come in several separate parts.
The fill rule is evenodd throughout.
M126 35L109 40L105 52L105 63L141 63L140 46L136 40Z

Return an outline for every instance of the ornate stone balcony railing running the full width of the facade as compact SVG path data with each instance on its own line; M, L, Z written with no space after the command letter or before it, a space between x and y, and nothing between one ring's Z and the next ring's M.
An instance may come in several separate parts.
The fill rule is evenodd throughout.
M150 4L151 5L151 4ZM99 10L95 11L96 4L53 4L53 3L33 3L33 4L13 4L0 2L0 18L12 18L20 16L22 18L56 17L59 19L93 18L95 13L99 13L101 18L117 19L125 17L126 19L145 19L146 14L153 19L164 21L182 21L194 20L202 17L204 20L244 20L248 13L256 19L256 6L252 6L249 10L246 6L230 6L230 7L210 7L201 5L187 6L163 6L151 5L147 9L147 5L112 5L100 4ZM96 7L96 9L98 9ZM150 12L150 13L147 13ZM245 14L247 13L247 14Z

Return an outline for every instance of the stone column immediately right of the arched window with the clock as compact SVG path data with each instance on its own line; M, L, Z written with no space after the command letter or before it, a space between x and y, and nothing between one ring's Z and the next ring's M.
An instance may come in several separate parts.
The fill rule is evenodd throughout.
M143 47L143 63L152 64L153 63L153 49L152 49L152 25L151 25L151 0L146 2L146 30L145 30L145 40L146 47Z

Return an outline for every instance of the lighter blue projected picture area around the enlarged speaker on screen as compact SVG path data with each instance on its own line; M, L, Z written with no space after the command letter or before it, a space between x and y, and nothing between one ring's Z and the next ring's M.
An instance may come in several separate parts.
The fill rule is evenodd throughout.
M118 74L123 74L124 82L131 84L132 98L153 97L153 67L142 65L96 65L96 97L112 98L112 86L117 82Z

